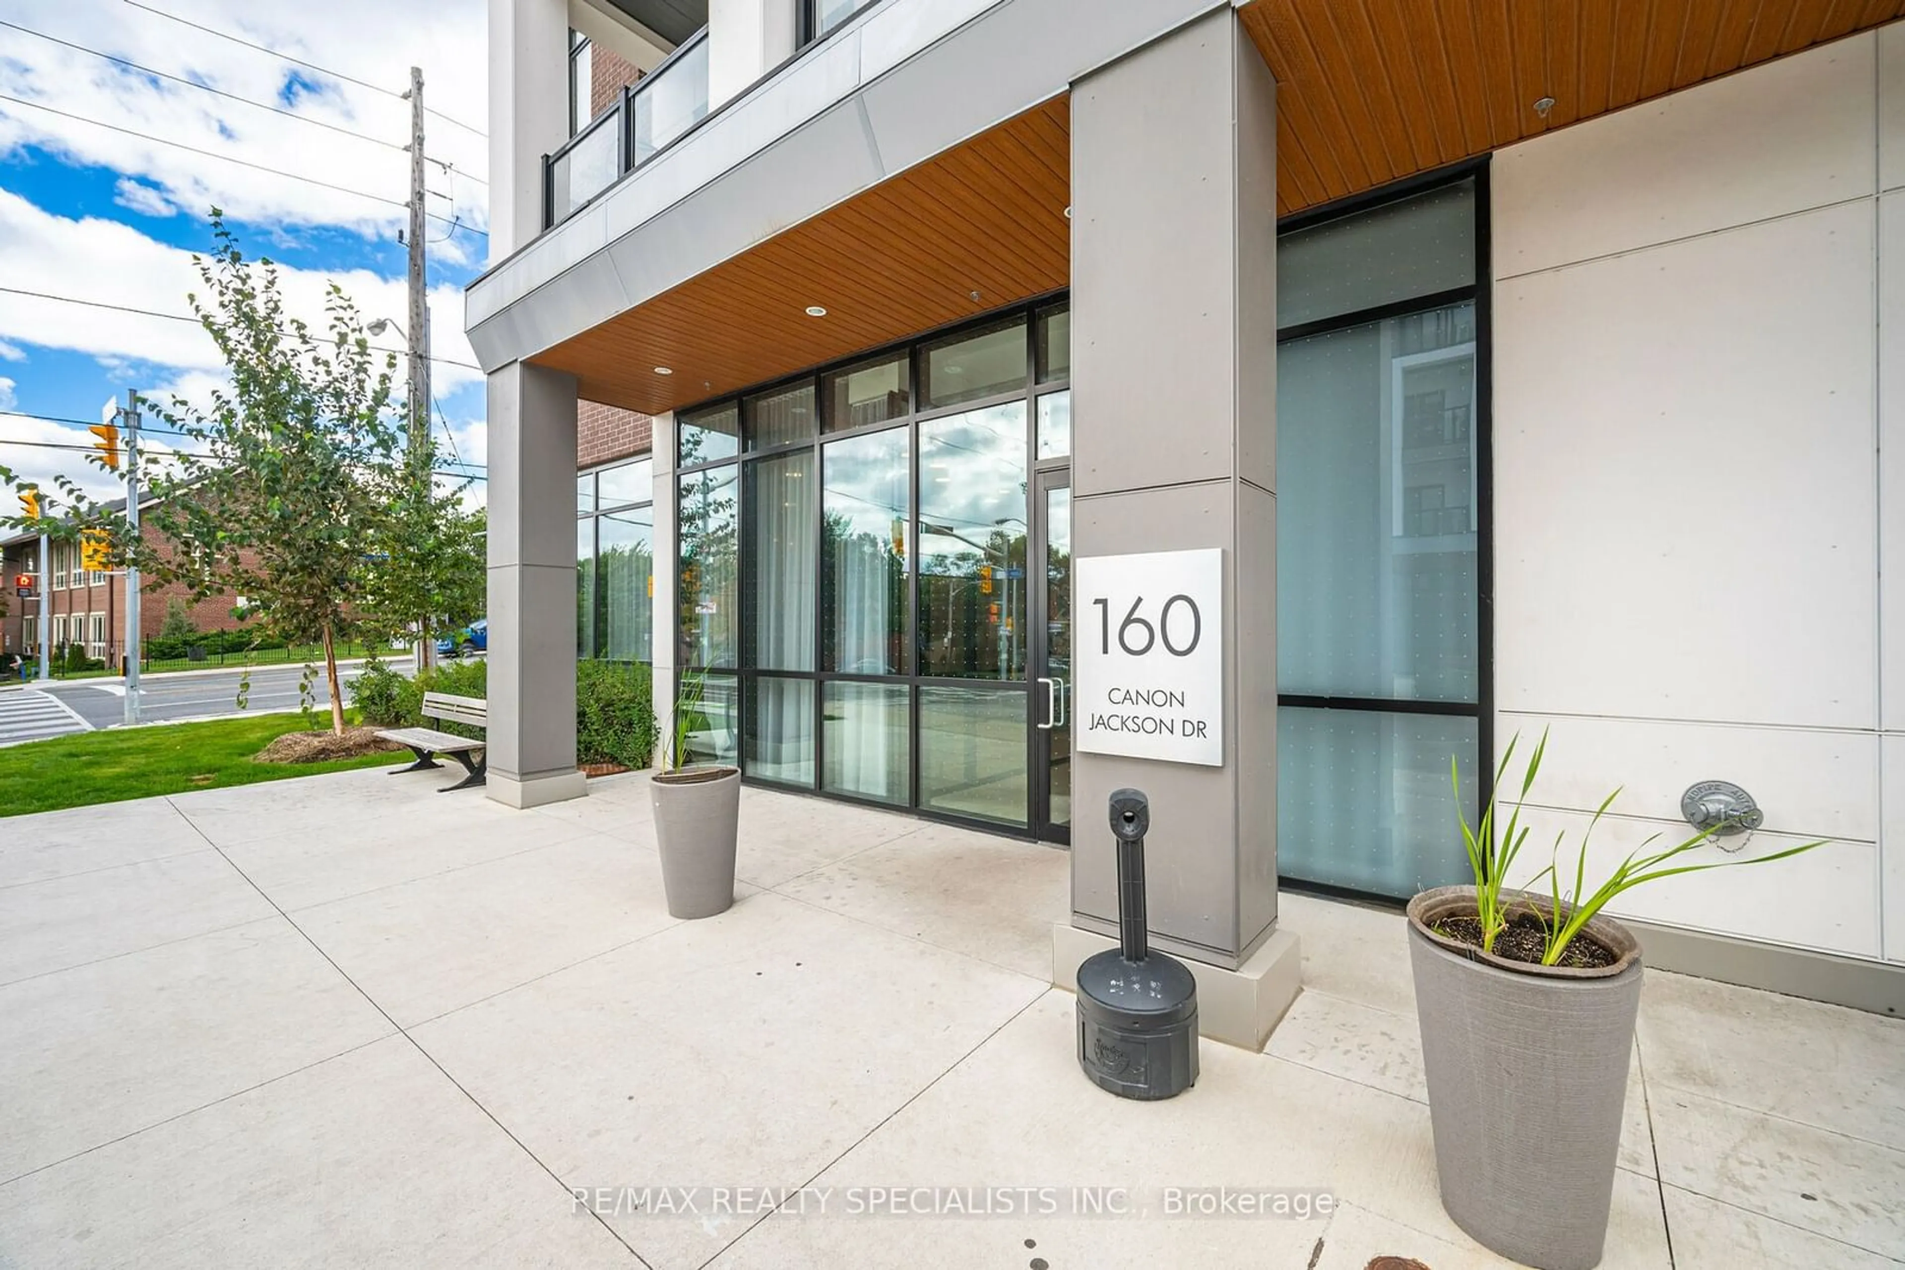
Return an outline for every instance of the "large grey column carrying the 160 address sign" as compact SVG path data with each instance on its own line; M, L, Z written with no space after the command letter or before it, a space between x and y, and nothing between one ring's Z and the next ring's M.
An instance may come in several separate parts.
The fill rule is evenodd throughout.
M1225 554L1225 765L1074 756L1073 925L1116 933L1132 784L1153 943L1236 969L1276 925L1276 84L1225 8L1074 84L1071 129L1074 550Z

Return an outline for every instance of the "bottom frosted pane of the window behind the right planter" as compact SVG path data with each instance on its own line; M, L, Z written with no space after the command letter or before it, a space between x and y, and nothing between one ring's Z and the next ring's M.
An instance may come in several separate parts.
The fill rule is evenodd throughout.
M1276 710L1276 872L1406 899L1467 880L1448 760L1474 823L1478 724L1436 714Z

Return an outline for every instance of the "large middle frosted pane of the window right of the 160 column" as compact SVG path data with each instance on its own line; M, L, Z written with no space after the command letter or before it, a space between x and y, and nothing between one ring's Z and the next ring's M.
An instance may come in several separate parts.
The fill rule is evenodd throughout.
M1276 350L1276 687L1478 701L1474 307Z

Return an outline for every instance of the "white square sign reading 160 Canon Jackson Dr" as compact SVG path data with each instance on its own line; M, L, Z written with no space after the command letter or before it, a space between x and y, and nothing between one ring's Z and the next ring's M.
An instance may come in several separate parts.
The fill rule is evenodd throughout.
M1074 744L1223 767L1223 548L1074 567Z

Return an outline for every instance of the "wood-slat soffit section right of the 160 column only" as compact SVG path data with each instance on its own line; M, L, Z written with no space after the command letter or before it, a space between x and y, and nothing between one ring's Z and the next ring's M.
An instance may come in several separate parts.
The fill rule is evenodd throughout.
M1238 17L1276 76L1288 215L1901 11L1905 0L1253 0Z

